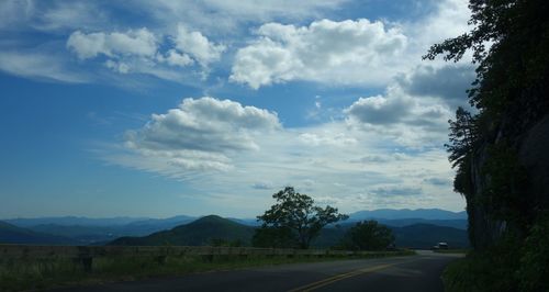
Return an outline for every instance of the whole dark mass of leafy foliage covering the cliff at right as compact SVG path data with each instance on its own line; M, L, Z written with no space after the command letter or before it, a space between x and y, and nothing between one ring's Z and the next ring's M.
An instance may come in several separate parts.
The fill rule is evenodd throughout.
M549 229L540 214L549 205L529 188L531 173L518 149L525 133L549 113L549 1L470 0L469 8L473 29L433 45L424 58L457 61L473 52L478 68L469 102L479 113L458 110L447 149L470 228L486 228L491 220L503 228L482 246L471 237L479 250L451 266L445 284L448 291L547 291ZM470 235L483 232L492 231Z

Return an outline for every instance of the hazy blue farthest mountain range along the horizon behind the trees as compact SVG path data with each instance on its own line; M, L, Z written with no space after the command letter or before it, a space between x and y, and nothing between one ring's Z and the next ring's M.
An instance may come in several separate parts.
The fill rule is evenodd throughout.
M120 237L146 237L153 234L161 234L163 232L172 228L179 228L179 234L187 233L186 226L189 223L195 222L198 217L193 216L173 216L168 218L148 218L148 217L111 217L111 218L88 218L88 217L38 217L38 218L12 218L5 220L4 224L0 225L0 243L19 243L19 244L65 244L65 245L101 245L110 243ZM259 223L255 218L228 218L233 223L243 225L247 229L253 229ZM384 224L396 231L399 227L407 227L411 225L429 225L432 228L436 227L452 227L460 232L467 229L467 214L466 212L450 212L439 209L419 209L419 210L373 210L360 211L349 214L349 218L341 222L341 226L354 225L358 221L377 220L379 223ZM4 226L10 225L10 228ZM193 225L194 226L194 225ZM34 238L31 237L14 237L12 233L8 236L9 231L13 228L21 228L23 234L36 234ZM233 226L234 227L234 226ZM328 226L335 227L335 226ZM24 229L24 232L23 232ZM325 228L323 237L318 238L320 246L329 246L333 242L329 238L338 238L340 236L337 228ZM236 228L233 228L233 232ZM441 229L439 229L440 232ZM244 233L243 233L244 234ZM5 236L4 236L5 235ZM51 238L44 237L45 235ZM208 238L212 236L194 233L197 239L186 239L189 244L208 244ZM238 236L236 236L238 237ZM410 236L408 236L410 237ZM4 239L2 239L4 238ZM10 240L5 238L11 238ZM14 240L13 238L19 238ZM41 239L42 238L42 239ZM57 238L57 239L54 239ZM217 238L222 238L217 236ZM243 237L233 238L227 235L228 239L243 239ZM206 240L208 239L208 240ZM212 239L212 238L210 238ZM215 239L215 238L214 238ZM193 242L194 240L194 242ZM205 242L204 242L205 240ZM399 240L399 239L397 239ZM246 240L244 240L246 242ZM249 238L248 238L249 242ZM324 243L325 242L325 243Z

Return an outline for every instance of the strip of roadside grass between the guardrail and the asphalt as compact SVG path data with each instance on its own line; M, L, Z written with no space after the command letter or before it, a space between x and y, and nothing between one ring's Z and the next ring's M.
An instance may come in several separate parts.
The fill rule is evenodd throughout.
M113 281L173 277L246 267L414 255L413 250L372 251L360 256L138 256L97 257L91 271L72 259L0 259L0 291L43 290Z

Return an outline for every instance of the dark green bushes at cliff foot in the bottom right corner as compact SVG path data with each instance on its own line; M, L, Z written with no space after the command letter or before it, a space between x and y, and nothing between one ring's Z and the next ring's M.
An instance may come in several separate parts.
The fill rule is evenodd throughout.
M546 212L528 229L526 240L507 233L492 248L450 263L442 273L445 291L549 291L548 234Z

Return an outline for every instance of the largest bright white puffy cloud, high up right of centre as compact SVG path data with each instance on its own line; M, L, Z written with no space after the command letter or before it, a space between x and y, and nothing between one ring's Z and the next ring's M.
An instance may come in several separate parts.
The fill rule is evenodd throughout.
M366 19L309 26L267 23L256 34L236 53L231 75L232 81L255 89L290 80L379 85L400 67L395 57L407 42L400 27Z

